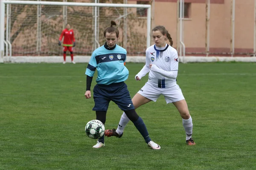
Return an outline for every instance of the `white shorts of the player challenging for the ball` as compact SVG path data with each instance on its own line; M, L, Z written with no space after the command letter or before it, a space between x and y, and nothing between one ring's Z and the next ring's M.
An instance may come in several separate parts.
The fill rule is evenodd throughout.
M167 104L185 99L180 86L177 84L171 88L157 88L151 83L146 82L138 93L154 102L163 94Z

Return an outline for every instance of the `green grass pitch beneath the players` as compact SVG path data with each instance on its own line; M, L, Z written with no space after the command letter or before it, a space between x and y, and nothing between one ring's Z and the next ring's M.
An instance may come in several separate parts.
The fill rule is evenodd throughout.
M131 97L143 63L127 63ZM87 63L0 64L0 170L255 170L256 63L179 65L177 84L189 105L195 146L187 146L177 109L161 96L137 109L151 139L148 148L129 122L105 147L84 132L95 119L85 99ZM96 76L93 78L95 85ZM122 111L111 102L105 128Z

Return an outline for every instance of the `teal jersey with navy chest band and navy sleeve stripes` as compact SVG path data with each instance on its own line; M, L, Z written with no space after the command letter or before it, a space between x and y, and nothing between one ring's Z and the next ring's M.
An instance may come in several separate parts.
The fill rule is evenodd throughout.
M124 65L126 53L125 48L119 45L115 45L113 48L109 48L106 44L102 45L93 51L85 74L93 77L97 69L97 84L109 85L124 82L129 75L129 71Z

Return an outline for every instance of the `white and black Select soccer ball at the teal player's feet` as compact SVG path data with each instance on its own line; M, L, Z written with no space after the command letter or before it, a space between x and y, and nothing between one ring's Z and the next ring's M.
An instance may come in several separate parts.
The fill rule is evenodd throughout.
M89 138L99 139L104 135L105 126L99 120L91 120L85 126L85 133Z

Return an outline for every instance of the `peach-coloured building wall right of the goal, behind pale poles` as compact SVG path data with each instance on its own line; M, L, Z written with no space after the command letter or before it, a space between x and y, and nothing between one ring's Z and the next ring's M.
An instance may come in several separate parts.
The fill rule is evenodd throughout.
M184 44L186 54L206 53L206 1L184 0ZM253 53L254 1L235 1L235 54ZM128 0L129 3L151 4L148 0ZM174 47L179 42L177 23L177 0L154 0L152 26L163 25L169 30ZM232 51L232 0L210 0L209 52L210 54L230 54ZM145 13L141 12L141 16Z

